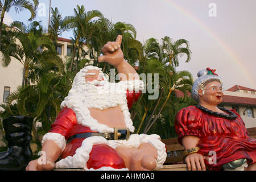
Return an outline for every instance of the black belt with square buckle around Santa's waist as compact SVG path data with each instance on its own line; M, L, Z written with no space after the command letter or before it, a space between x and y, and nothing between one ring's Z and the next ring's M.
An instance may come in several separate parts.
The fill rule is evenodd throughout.
M79 133L69 137L67 143L76 138L88 138L93 136L104 137L107 140L128 140L130 137L130 130L129 128L114 128L114 133Z

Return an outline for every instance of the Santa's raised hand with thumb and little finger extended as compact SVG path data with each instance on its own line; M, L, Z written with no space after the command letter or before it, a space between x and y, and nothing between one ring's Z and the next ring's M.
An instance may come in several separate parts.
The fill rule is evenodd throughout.
M108 42L102 48L102 53L104 55L98 57L98 61L109 63L114 67L117 67L119 64L123 62L123 52L121 49L122 43L122 35L117 36L117 40L115 42Z

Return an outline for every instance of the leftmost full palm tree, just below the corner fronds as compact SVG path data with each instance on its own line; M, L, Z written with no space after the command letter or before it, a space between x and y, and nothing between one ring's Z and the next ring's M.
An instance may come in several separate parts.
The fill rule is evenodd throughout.
M42 34L43 28L40 28L39 22L32 22L29 26L22 22L14 22L12 26L15 26L18 30L15 35L18 42L10 46L9 49L11 50L10 55L23 64L22 86L28 85L28 73L33 71L32 68L35 64L52 63L61 70L62 61L56 55L51 40ZM38 26L39 29L36 28ZM42 51L40 51L40 48L42 48Z

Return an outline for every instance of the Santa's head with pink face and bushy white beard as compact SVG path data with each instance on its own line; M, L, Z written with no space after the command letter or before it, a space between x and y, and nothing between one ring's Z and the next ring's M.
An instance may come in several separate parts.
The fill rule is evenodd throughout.
M74 78L66 101L69 106L77 105L77 108L86 106L86 108L108 109L123 103L127 105L126 89L122 88L122 84L117 86L115 82L106 80L104 73L97 69L82 69ZM65 102L63 105L66 104Z

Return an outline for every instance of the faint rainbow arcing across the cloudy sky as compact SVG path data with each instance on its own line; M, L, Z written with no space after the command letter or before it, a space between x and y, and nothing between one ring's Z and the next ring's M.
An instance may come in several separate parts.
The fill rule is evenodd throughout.
M195 15L191 14L187 9L184 7L178 5L176 2L172 0L161 0L162 2L166 3L168 6L172 6L175 10L179 11L181 14L188 17L188 19L191 19L192 22L195 22L197 26L199 26L202 30L207 32L215 41L216 43L224 49L224 51L228 54L228 56L234 61L234 63L237 64L238 68L241 69L242 75L245 76L247 80L250 81L252 86L255 85L255 81L253 80L253 77L249 75L249 71L247 71L245 64L243 64L242 60L239 59L239 57L236 55L236 53L226 44L223 40L221 40L218 35L216 35L215 32L210 30L200 19L198 19Z

